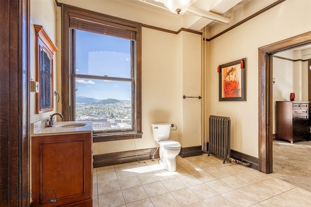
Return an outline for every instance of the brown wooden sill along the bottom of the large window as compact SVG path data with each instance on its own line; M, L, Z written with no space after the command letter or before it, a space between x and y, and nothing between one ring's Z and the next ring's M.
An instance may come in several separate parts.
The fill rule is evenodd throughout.
M119 141L119 140L132 140L132 139L141 139L141 138L142 138L142 132L105 134L105 135L93 133L93 143L102 143L102 142Z

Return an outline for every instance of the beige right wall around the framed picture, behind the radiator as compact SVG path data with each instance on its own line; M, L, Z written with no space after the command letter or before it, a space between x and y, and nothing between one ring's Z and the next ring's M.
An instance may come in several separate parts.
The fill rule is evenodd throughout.
M311 30L311 1L286 0L209 42L209 111L231 118L231 148L258 158L258 48ZM217 66L246 57L246 101L218 101Z

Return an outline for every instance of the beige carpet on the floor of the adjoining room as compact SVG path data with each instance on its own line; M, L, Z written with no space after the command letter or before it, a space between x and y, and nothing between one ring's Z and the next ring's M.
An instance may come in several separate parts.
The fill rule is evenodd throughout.
M311 141L273 141L271 175L311 192Z

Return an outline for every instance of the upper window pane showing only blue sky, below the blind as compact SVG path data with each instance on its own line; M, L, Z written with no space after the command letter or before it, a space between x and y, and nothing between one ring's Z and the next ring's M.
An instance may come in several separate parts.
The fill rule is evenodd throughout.
M76 30L76 73L131 78L131 41Z

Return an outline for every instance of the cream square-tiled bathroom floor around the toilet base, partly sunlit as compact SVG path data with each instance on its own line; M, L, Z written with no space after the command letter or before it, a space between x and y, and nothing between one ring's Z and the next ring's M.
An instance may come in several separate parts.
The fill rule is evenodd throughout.
M94 168L93 207L311 207L311 192L215 156Z

